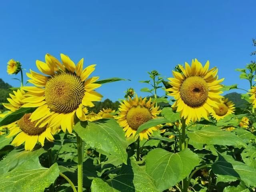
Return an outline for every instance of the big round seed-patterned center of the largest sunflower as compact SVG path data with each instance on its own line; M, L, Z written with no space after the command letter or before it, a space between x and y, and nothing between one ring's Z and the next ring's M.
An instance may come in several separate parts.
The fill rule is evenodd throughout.
M45 100L52 111L70 113L82 103L84 92L84 83L80 77L62 72L46 82Z

